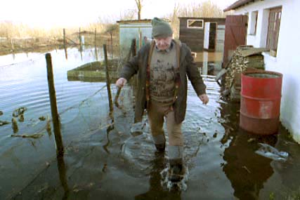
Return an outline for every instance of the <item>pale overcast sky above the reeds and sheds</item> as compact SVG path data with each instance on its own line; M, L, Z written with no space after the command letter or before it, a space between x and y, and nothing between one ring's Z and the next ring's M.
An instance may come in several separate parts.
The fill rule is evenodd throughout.
M174 5L200 3L205 0L143 0L142 18L162 17ZM222 9L236 0L211 0ZM22 22L32 27L83 26L99 17L119 20L119 16L136 9L134 0L2 0L0 21Z

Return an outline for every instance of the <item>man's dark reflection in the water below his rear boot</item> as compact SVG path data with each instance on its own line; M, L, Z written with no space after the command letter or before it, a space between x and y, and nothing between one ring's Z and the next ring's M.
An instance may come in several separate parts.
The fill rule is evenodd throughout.
M155 152L155 159L152 161L150 171L149 191L138 194L135 199L181 199L181 191L168 191L162 187L161 171L166 168L167 161L164 159L164 153Z

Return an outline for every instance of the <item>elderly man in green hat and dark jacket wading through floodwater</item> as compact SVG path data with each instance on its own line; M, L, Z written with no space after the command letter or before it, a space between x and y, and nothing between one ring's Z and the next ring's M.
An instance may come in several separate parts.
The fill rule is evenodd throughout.
M117 87L122 87L138 73L136 95L136 121L141 121L146 109L152 139L158 152L164 152L164 119L169 136L169 180L180 181L185 173L183 166L183 134L181 124L185 118L187 75L195 92L204 104L209 102L206 86L198 72L190 48L172 39L168 22L152 20L151 44L146 44L138 54L124 65Z

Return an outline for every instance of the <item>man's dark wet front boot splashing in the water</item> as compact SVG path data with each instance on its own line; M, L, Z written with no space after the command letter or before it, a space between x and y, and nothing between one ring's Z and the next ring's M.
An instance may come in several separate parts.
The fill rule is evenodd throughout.
M185 167L183 166L183 159L170 159L169 180L171 182L179 182L183 179L185 174Z

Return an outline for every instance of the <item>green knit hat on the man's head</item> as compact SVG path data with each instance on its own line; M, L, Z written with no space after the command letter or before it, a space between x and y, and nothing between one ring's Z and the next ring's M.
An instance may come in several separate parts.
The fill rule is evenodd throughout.
M172 36L173 31L168 22L159 18L153 18L152 20L152 37L168 37Z

